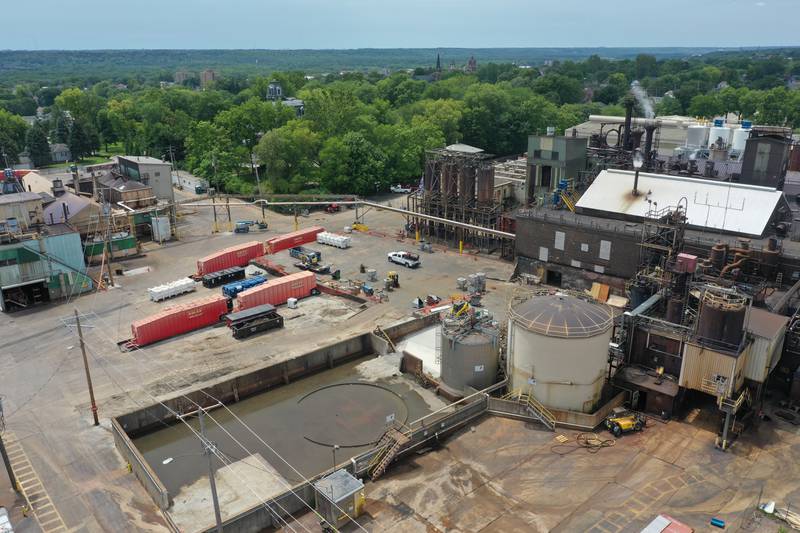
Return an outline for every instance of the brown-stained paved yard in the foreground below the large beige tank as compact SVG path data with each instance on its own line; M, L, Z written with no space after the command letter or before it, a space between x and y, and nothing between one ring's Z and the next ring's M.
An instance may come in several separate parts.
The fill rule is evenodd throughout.
M719 531L709 525L718 517L726 531L776 532L754 513L759 495L800 505L800 435L785 422L763 423L727 453L702 417L651 422L597 453L557 446L558 434L576 435L486 416L368 483L361 522L376 532L612 533L639 532L665 513L695 531Z

